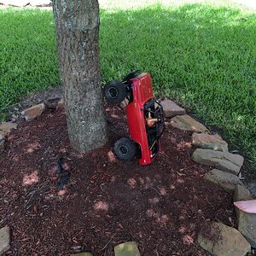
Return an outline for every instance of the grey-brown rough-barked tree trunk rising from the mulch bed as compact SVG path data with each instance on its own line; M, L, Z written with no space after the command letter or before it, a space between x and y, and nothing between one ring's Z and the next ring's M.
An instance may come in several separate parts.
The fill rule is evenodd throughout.
M97 0L54 0L55 32L73 148L88 152L108 142L99 67Z

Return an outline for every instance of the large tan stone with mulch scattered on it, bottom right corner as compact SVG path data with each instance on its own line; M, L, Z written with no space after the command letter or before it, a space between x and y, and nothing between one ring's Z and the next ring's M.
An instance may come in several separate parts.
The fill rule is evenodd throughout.
M201 230L197 241L203 249L215 256L243 256L251 249L239 231L216 222L212 222L209 230Z

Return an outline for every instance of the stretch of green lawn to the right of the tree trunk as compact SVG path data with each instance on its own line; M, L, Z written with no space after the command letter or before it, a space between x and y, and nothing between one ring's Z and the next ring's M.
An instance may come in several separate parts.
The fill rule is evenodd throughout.
M158 96L223 129L255 167L255 18L202 4L102 10L102 79L121 79L137 69L151 73Z

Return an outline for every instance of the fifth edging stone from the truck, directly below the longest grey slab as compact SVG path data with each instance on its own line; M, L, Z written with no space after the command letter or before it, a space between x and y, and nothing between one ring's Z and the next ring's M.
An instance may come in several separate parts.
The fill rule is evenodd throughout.
M223 172L218 169L207 172L204 178L212 183L217 183L230 194L234 193L237 184L243 186L239 177L230 172Z

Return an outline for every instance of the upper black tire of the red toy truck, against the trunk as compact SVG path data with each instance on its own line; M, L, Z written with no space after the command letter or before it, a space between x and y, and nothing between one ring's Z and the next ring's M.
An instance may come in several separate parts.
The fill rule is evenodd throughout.
M112 104L123 102L126 96L125 84L116 80L109 82L104 86L104 96Z

